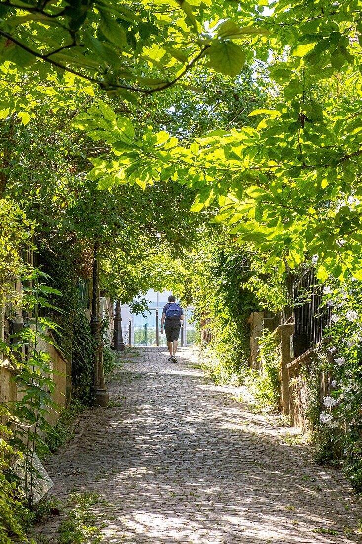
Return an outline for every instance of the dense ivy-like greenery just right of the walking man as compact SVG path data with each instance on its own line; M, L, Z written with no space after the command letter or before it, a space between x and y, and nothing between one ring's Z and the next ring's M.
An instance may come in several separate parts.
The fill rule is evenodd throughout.
M206 236L204 233L197 253L189 256L183 288L179 289L184 289L185 301L191 294L196 328L202 324L211 337L210 372L217 381L237 382L246 374L250 349L247 319L258 303L245 288L250 277L247 255L223 236Z

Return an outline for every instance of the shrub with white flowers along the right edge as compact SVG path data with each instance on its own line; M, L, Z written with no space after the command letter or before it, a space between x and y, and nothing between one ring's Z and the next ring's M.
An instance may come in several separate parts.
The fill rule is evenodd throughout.
M362 282L348 279L324 287L332 309L329 347L330 394L319 415L324 428L338 429L347 476L362 490Z

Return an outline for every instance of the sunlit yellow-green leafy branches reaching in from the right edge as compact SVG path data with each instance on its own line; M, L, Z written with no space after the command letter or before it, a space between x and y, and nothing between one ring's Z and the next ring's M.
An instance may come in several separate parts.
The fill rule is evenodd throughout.
M297 267L308 252L319 256L318 279L349 273L360 277L357 8L345 1L338 11L327 9L321 15L315 5L306 14L302 2L286 9L280 0L270 15L255 12L252 28L236 26L242 13L233 15L235 21L223 21L216 41L203 41L209 66L222 65L224 73L234 74L245 50L236 50L239 46L229 39L253 35L255 57L274 96L271 107L251 112L248 126L221 126L185 144L158 127L137 134L129 119L98 102L98 108L76 121L90 138L110 148L110 160L92 160L90 178L103 188L182 183L197 192L191 209L199 212L216 202L218 220L241 242L268 255L280 273L286 263ZM242 9L252 13L254 5L243 4ZM267 67L271 50L276 62Z

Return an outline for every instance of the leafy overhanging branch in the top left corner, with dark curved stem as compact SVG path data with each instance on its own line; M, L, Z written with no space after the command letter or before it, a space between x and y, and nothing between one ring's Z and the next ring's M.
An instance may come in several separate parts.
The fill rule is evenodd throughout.
M135 93L167 89L196 63L236 75L267 33L248 26L253 15L260 16L252 4L161 4L160 10L145 1L96 0L65 8L61 2L31 8L3 4L2 61L20 71L39 70L44 78L68 71L98 83L110 96L135 102ZM225 21L236 14L241 28L238 21ZM207 24L211 20L213 28Z

